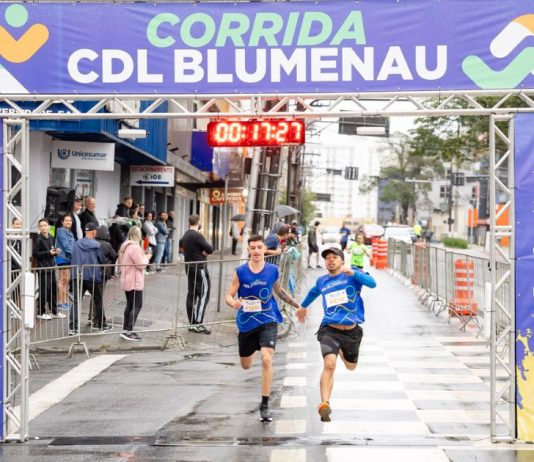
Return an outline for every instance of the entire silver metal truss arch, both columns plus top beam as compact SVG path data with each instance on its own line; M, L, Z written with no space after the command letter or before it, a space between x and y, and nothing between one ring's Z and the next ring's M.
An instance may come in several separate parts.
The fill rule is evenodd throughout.
M494 97L488 100L487 97ZM515 97L512 100L512 97ZM519 98L524 107L514 107ZM139 100L149 101L139 112ZM77 101L92 101L81 111ZM488 103L491 101L491 103ZM269 104L266 104L269 103ZM155 112L167 104L167 112ZM516 104L517 106L517 104ZM262 108L269 109L262 109ZM491 265L493 335L491 340L491 437L493 441L513 441L515 422L515 301L514 259L500 249L498 239L512 238L513 228L497 227L496 219L510 210L513 223L513 114L534 112L534 91L446 91L398 93L339 93L299 95L0 95L0 117L4 118L4 190L2 191L4 222L4 435L6 439L25 441L28 438L28 380L29 349L24 325L26 300L24 273L29 263L28 182L29 130L31 120L82 119L146 119L195 118L217 119L258 117L301 117L306 119L335 119L350 116L487 116L490 119L491 167ZM509 132L504 134L497 122L507 122ZM498 156L495 138L507 143L509 149ZM15 147L17 150L15 151ZM15 152L17 154L15 154ZM497 169L508 167L508 185L497 176ZM254 174L254 172L252 172ZM508 194L508 202L496 210L496 190ZM9 225L21 218L22 230ZM14 245L22 243L19 256ZM510 271L497 280L497 253L510 262ZM10 262L20 263L17 274ZM506 288L503 290L503 288ZM18 294L18 295L17 295ZM503 296L506 295L506 296ZM497 381L497 368L507 374L505 382ZM502 388L498 389L498 385ZM508 412L503 411L503 406ZM505 424L506 431L497 433Z

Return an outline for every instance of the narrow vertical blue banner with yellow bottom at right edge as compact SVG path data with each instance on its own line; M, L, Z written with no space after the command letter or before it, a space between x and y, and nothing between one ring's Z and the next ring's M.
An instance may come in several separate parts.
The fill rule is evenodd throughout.
M534 114L515 119L515 322L518 438L534 441Z

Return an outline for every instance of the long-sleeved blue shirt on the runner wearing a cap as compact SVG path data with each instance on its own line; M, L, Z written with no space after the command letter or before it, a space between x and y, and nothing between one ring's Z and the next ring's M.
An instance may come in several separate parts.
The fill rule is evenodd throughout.
M360 296L362 286L373 288L376 287L376 282L372 276L357 269L352 276L345 273L336 276L325 274L317 279L302 306L307 308L322 295L324 310L322 326L361 324L365 321L363 300Z

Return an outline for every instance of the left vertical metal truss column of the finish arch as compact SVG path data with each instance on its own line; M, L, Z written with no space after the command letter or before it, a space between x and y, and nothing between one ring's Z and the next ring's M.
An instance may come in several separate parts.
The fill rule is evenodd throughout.
M24 276L31 255L27 228L29 122L4 120L3 140L3 434L6 441L25 441L28 438L29 331L25 325ZM15 218L22 221L22 228L11 225Z

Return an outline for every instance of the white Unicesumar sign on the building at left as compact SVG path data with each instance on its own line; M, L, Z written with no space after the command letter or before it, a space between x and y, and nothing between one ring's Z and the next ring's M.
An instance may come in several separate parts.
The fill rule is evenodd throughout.
M115 143L54 140L52 167L113 171Z

